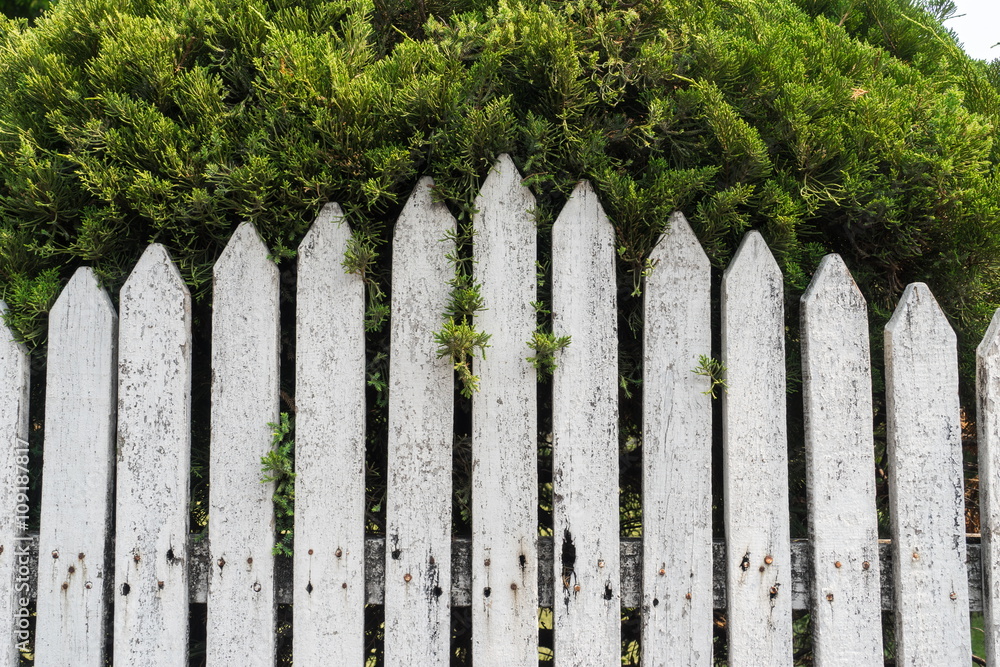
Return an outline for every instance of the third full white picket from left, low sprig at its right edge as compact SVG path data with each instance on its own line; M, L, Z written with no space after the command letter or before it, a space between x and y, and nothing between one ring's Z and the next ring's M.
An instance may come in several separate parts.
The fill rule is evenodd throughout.
M271 667L274 485L260 459L279 419L278 269L250 223L215 265L212 309L208 664Z

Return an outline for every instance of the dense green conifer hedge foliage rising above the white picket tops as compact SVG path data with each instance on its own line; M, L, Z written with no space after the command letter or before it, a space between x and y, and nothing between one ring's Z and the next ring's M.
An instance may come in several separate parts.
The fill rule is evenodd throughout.
M501 152L542 229L590 179L636 285L681 209L717 266L761 229L791 296L837 251L876 308L930 283L966 345L1000 302L1000 62L911 0L60 0L0 45L31 345L80 264L115 291L155 240L203 297L241 221L280 260L337 201L377 249L421 174L468 220Z

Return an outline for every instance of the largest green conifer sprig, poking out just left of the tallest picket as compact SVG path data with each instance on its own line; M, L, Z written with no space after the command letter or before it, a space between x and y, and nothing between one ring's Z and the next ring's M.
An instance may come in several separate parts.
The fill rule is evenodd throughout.
M483 309L483 297L479 284L472 279L472 259L462 253L463 247L471 243L471 237L471 230L467 230L449 233L442 239L455 243L455 252L448 254L455 265L455 277L449 283L451 295L444 312L444 324L434 334L438 358L451 358L462 385L462 396L466 398L472 398L472 394L479 391L479 377L472 372L472 359L477 353L485 359L490 341L490 334L476 331L475 326L475 314Z

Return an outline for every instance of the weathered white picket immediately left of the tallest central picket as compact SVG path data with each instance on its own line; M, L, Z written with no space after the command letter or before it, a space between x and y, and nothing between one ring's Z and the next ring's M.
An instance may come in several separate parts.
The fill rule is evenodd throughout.
M385 660L448 665L454 370L434 333L455 269L455 219L423 178L396 223L389 353Z

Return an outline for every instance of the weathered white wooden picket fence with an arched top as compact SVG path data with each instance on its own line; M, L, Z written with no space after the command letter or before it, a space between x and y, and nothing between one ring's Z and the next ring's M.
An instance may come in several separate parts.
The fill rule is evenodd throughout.
M349 231L336 205L299 248L295 557L285 599L295 664L364 664L364 606L373 601L384 603L387 665L448 664L453 604L471 606L477 667L536 665L540 605L553 608L557 665L619 665L622 606L641 607L644 665L709 665L712 610L722 605L734 666L790 665L793 608L814 615L817 664L881 664L868 322L840 258L823 260L802 298L806 553L789 539L781 273L750 232L723 276L727 539L722 574L713 574L712 408L709 379L693 372L711 354L709 262L675 215L645 288L640 546L619 538L614 237L596 194L580 184L552 232L553 328L573 338L552 386L549 546L537 523L536 378L526 360L534 200L501 157L474 219L487 306L477 322L492 338L473 397L470 555L451 536L454 378L433 340L453 272L453 242L442 239L456 223L431 187L420 181L395 230L385 556L367 568L363 286L341 267ZM191 304L170 257L149 247L118 314L86 268L52 309L38 665L105 664L112 604L115 664L186 665L188 604L202 599L208 664L274 664L280 594L260 458L279 416L278 272L249 224L216 265L214 289L210 538L201 547L210 573L189 544ZM36 570L15 520L28 364L7 338L0 581L10 593L0 596L9 619L0 664L14 665L35 586L20 583ZM970 593L978 602L980 587L975 571L968 584L956 342L926 286L907 287L885 349L897 664L968 665ZM979 363L981 590L993 664L1000 318Z

